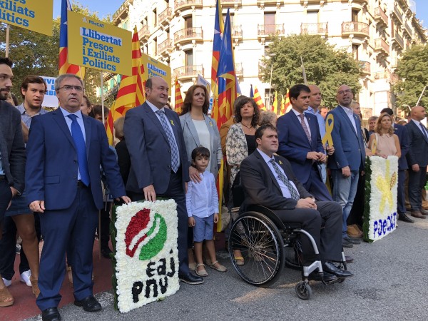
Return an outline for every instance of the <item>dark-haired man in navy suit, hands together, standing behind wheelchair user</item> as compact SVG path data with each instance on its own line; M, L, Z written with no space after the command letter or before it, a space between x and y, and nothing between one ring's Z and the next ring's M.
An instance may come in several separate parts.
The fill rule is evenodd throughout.
M290 88L292 109L277 121L278 154L290 161L297 180L317 200L332 200L318 167L318 163L327 162L320 127L315 115L305 113L310 94L310 88L305 85Z

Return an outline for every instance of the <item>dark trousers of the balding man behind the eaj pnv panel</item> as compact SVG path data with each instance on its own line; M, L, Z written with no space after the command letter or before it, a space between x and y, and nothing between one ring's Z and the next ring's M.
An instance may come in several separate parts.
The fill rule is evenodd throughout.
M170 182L168 189L164 194L156 194L156 197L161 198L172 198L177 203L177 213L178 213L178 261L179 268L178 271L183 274L190 272L188 266L188 213L185 207L185 193L183 190L183 180L181 178L181 170L178 169L177 173L171 172ZM130 198L133 201L144 200L144 195L142 193L132 193L130 192Z

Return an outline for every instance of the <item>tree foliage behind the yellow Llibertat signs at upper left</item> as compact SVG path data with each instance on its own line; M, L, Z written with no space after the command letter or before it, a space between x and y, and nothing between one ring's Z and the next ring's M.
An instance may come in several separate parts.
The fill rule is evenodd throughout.
M75 1L73 11L93 19L98 19L98 13L89 11ZM110 16L102 19L104 23L111 24ZM9 57L14 61L14 88L12 92L22 101L21 83L28 75L58 76L59 54L59 25L60 18L54 19L53 36L46 36L34 31L9 26ZM0 39L4 42L0 46L0 55L5 56L6 50L6 24L0 25ZM93 103L101 103L96 97L96 87L101 86L100 71L86 68L85 74L86 95Z

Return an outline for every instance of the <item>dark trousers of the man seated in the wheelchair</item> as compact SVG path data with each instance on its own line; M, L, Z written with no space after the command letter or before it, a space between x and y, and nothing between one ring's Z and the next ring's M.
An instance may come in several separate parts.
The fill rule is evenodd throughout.
M342 207L336 202L316 202L317 210L295 208L294 210L274 210L284 223L300 223L302 229L312 235L317 243L320 257L314 253L312 243L306 235L300 235L305 263L313 260L322 262L342 260ZM321 225L324 228L321 230Z

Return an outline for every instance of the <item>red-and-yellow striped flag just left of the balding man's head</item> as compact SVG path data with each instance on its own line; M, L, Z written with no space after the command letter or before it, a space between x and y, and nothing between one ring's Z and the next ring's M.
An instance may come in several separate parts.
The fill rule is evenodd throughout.
M126 111L140 106L146 101L146 93L143 83L144 66L141 60L140 39L138 39L137 27L134 27L132 36L132 75L122 76L116 101L108 113L106 131L108 143L113 145L113 123L117 118L125 116Z

